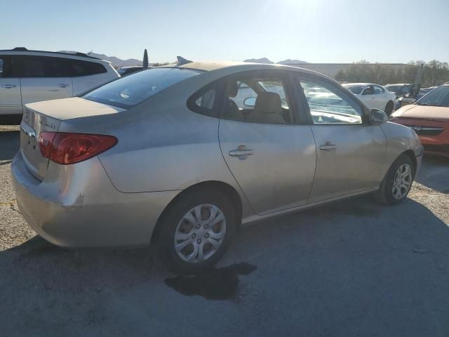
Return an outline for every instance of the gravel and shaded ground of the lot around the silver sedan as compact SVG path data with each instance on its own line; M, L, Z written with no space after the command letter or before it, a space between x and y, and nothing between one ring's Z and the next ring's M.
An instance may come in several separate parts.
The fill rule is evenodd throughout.
M216 270L151 249L59 249L27 227L0 126L1 336L449 336L449 160L408 199L347 199L242 227ZM368 173L367 173L368 174Z

